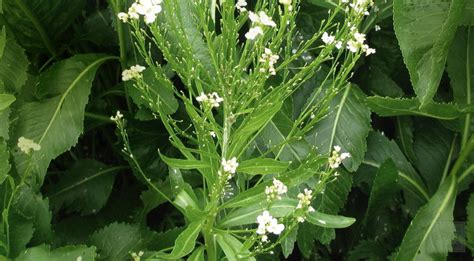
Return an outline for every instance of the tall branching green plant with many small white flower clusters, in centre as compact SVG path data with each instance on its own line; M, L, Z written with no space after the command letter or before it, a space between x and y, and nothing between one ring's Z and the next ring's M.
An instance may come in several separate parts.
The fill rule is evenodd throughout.
M138 0L117 14L131 26L142 58L122 80L133 84L135 99L161 120L181 153L160 154L175 181L172 195L134 159L126 117L117 112L112 120L136 170L187 223L172 249L135 259L192 253L253 260L293 244L289 235L303 222L342 228L355 221L315 211L313 200L350 157L344 144L331 141L325 154L299 144L348 86L359 57L375 52L358 30L372 4L341 1L309 38L298 31L292 0ZM293 96L321 72L321 84L306 89L307 101L288 113ZM278 135L271 127L277 115L290 123ZM200 175L200 185L186 183L181 170Z

